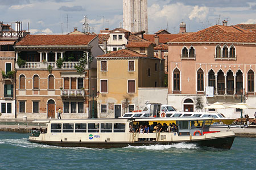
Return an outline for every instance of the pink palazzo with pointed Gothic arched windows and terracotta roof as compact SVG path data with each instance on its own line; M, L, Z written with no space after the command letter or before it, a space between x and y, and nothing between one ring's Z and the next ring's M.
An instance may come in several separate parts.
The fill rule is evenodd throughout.
M226 105L256 105L253 29L214 25L171 40L168 45L169 104L180 111L195 111L195 97L201 96L204 107L217 101ZM240 109L233 108L218 112L233 118L241 114ZM253 117L255 111L243 113Z

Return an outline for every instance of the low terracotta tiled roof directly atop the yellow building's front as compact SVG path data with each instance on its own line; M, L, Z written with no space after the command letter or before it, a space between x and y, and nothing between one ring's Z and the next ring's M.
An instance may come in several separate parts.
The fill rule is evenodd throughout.
M122 49L108 54L104 54L98 57L147 57L146 55L139 54L129 49ZM98 58L96 57L96 58Z

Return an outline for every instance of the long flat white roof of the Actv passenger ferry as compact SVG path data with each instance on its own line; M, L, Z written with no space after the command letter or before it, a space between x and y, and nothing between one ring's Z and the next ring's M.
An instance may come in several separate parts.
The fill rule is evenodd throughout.
M88 119L48 119L48 120L35 120L32 121L33 123L76 123L76 122L126 122L126 121L196 121L196 120L212 120L212 117L167 117L167 118L160 118L160 117L142 117L142 118L88 118Z

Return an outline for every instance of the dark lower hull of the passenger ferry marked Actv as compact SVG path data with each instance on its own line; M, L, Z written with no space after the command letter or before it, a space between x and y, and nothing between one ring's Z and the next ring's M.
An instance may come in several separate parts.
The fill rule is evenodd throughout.
M122 148L127 146L174 145L176 143L193 143L199 147L213 147L229 150L235 136L200 139L193 141L137 141L137 142L67 142L67 141L38 141L29 139L30 142L61 147L87 147L87 148Z

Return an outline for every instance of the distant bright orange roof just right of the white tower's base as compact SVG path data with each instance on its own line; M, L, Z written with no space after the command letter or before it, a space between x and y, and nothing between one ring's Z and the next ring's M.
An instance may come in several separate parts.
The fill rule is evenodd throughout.
M155 38L154 36L156 36L155 34L153 35L144 35L144 39L151 41L153 43L155 43ZM165 44L166 42L176 39L177 37L182 37L185 35L182 34L159 34L159 43L160 44Z

